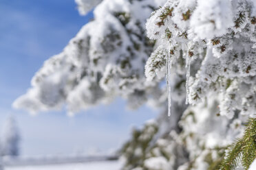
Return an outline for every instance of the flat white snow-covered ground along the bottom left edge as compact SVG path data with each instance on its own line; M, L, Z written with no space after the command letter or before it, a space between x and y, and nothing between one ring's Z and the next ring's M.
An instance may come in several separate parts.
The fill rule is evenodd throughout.
M5 167L4 170L120 170L121 165L120 161L114 160L61 165Z

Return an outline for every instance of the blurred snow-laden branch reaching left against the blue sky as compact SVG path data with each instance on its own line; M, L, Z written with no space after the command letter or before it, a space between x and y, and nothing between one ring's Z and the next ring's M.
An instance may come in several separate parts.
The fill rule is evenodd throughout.
M15 108L32 113L67 104L78 112L114 97L137 108L164 91L158 82L146 82L144 65L154 43L145 35L145 22L159 1L105 0L62 53L47 60L34 75L32 88L14 101Z

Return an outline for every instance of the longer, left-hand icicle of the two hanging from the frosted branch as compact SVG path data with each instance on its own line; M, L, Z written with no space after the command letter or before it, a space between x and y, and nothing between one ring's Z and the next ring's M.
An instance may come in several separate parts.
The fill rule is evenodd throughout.
M168 116L171 117L171 56L170 56L170 50L167 51L167 88L168 88Z

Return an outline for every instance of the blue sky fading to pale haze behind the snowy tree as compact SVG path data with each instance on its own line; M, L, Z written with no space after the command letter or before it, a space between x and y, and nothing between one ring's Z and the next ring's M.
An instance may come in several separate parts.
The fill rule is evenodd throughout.
M132 125L156 117L156 110L125 110L125 101L98 106L75 117L64 111L30 116L12 109L12 101L25 93L43 62L62 51L89 19L79 16L74 0L0 1L0 132L8 114L14 114L21 131L21 154L71 154L98 147L119 147Z

